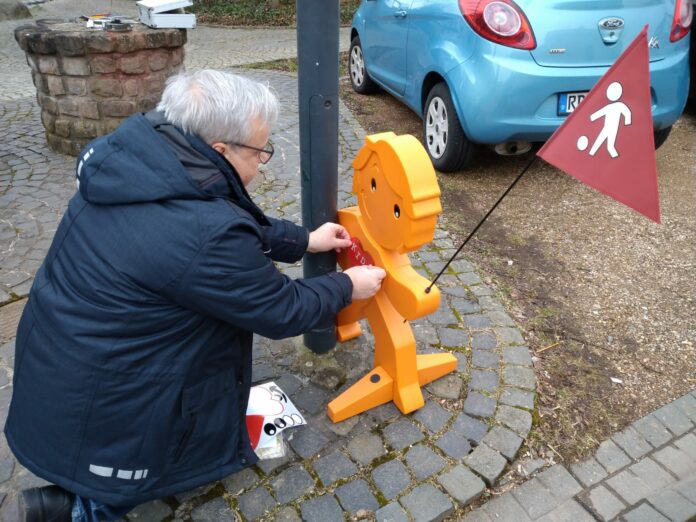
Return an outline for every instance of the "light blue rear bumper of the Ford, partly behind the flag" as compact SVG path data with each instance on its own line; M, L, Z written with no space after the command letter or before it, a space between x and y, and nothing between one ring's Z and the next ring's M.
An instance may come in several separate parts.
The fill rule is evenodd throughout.
M650 64L653 124L672 125L686 104L688 47ZM523 51L481 54L446 75L462 128L477 143L545 141L565 116L558 94L589 91L607 67L542 67Z

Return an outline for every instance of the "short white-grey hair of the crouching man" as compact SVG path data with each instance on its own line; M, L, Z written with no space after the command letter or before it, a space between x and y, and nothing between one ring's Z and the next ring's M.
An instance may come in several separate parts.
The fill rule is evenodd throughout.
M268 85L212 69L170 77L157 109L208 144L246 143L252 123L271 129L278 119L278 99Z

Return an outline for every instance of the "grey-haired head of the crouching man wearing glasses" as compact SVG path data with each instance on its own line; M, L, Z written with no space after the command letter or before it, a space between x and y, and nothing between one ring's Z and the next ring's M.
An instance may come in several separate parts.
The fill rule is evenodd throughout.
M278 99L263 83L210 69L183 72L167 80L157 109L225 156L245 185L273 154Z

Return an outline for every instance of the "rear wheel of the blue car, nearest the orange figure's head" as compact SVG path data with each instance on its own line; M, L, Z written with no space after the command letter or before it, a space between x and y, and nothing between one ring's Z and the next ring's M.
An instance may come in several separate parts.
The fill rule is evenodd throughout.
M428 93L423 111L423 138L425 150L437 170L453 172L471 162L474 144L462 130L449 87L444 82Z

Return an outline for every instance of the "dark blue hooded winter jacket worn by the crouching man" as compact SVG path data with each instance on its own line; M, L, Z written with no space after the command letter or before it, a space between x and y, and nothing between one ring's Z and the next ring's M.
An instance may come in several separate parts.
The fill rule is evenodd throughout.
M345 274L280 273L273 261L298 260L307 230L264 216L221 155L151 120L132 116L78 158L17 332L5 428L33 473L114 505L254 463L252 332L298 335L352 292Z

